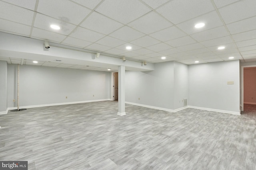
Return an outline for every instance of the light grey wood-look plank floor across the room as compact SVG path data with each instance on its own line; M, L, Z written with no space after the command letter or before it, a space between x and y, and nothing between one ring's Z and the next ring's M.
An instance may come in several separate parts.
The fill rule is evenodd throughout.
M29 170L256 170L256 109L176 113L92 102L0 115L0 160ZM248 107L249 108L249 107Z

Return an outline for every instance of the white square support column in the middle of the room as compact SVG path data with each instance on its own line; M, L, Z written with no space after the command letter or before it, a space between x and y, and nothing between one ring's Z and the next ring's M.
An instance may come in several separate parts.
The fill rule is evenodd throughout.
M118 66L118 113L123 116L125 113L125 66Z

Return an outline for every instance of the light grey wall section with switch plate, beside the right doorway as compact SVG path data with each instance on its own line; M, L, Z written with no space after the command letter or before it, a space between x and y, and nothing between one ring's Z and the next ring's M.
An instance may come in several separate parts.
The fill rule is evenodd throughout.
M239 67L238 60L189 65L188 105L240 113Z

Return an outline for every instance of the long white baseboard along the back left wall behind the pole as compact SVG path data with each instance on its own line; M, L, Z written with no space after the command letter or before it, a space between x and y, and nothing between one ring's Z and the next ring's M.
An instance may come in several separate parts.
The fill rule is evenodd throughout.
M41 104L41 105L33 105L33 106L20 106L20 109L25 108L35 108L35 107L47 107L47 106L59 106L59 105L67 105L67 104L80 104L80 103L89 103L89 102L102 102L108 101L111 99L100 99L100 100L87 100L87 101L79 101L79 102L66 102L66 103L55 103L55 104ZM17 109L17 107L8 107L8 110ZM1 113L1 112L0 112Z

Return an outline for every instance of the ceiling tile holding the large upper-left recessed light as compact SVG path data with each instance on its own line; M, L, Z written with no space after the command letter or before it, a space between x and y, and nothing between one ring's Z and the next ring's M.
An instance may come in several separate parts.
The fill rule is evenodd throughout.
M60 26L60 29L52 29L50 27L52 24ZM76 28L76 25L37 13L34 21L34 27L44 29L46 31L60 33L63 35L69 35Z

